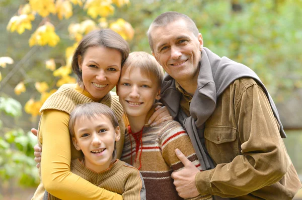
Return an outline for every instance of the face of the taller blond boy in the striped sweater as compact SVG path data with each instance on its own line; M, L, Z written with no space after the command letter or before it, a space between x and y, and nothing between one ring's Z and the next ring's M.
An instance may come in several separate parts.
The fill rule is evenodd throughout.
M127 68L121 72L118 96L128 117L145 119L155 100L160 99L160 89L152 76L139 68Z

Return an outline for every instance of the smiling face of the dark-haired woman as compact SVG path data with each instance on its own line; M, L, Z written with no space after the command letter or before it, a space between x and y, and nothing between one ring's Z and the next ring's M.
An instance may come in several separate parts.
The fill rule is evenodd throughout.
M121 63L122 55L118 50L103 46L89 47L84 57L78 58L85 90L101 100L116 86Z

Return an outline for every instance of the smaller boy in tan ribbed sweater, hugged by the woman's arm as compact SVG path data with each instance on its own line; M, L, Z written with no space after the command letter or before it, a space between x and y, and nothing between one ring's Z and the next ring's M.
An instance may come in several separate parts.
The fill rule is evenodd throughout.
M82 159L71 160L71 172L104 189L117 192L123 199L145 199L139 171L116 159L115 142L120 139L113 111L101 103L78 105L70 114L69 132ZM45 192L44 199L58 199Z

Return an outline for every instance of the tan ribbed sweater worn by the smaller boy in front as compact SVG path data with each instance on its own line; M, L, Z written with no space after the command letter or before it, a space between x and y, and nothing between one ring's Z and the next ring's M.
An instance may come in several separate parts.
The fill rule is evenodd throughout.
M124 200L146 199L144 183L139 171L118 159L110 168L99 173L86 167L80 159L74 159L71 160L71 172L99 187L122 194ZM44 199L59 200L47 191Z

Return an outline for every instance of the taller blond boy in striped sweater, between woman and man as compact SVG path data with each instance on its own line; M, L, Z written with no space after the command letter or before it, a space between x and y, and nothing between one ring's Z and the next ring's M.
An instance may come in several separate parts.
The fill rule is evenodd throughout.
M200 167L190 138L182 126L168 120L155 126L146 122L159 100L163 69L145 52L133 52L122 67L118 96L129 124L121 160L138 168L144 179L146 199L182 199L175 189L171 173L183 167L175 149ZM193 199L212 199L211 195Z

